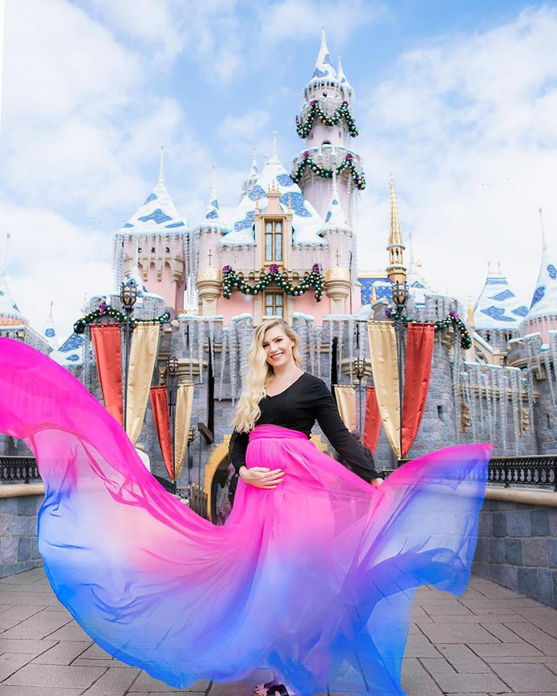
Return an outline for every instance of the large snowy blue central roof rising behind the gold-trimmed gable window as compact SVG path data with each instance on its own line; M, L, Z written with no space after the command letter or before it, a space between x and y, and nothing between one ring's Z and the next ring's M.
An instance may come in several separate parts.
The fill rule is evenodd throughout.
M292 208L292 244L322 244L327 241L319 236L323 219L313 205L304 198L300 187L290 178L276 153L276 133L274 134L273 155L258 176L250 191L244 193L230 220L230 232L221 239L221 244L255 244L253 235L253 215L258 201L260 212L267 208L267 190L272 185L281 193L279 203L284 212L288 201Z

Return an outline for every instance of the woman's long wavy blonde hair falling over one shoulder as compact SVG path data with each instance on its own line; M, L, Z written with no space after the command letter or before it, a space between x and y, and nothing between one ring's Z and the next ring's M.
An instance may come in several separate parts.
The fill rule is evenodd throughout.
M232 421L233 427L238 432L250 432L253 430L256 420L261 415L259 402L265 397L265 387L274 374L273 366L267 363L267 354L265 353L263 342L265 341L265 332L272 329L273 326L281 326L288 338L294 341L292 358L294 358L294 362L298 367L301 365L299 335L288 322L285 322L284 319L265 319L259 324L253 336L253 342L247 351L248 372Z

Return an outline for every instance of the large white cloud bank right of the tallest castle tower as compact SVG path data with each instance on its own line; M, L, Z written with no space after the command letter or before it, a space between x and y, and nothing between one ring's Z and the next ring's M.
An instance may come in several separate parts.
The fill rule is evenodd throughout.
M414 232L439 290L475 299L487 261L501 261L529 303L541 253L538 207L548 236L557 227L556 35L556 10L525 10L492 31L404 54L367 99L359 90L368 189L384 191L363 196L362 267L386 258L394 173L402 227Z

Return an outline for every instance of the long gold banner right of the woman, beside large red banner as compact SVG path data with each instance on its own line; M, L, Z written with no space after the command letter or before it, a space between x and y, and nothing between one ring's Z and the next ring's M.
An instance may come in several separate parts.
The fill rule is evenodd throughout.
M400 396L395 327L391 322L368 322L371 371L383 429L400 458Z

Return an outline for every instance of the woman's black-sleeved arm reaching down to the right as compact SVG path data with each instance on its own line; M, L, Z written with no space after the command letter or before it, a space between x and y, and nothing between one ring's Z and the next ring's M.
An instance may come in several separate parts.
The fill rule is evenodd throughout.
M340 418L333 395L324 382L321 381L321 385L317 385L315 388L315 416L325 436L340 454L340 457L352 466L354 473L360 478L368 482L379 478L379 474L364 454L363 449L352 437L344 425L343 419Z

